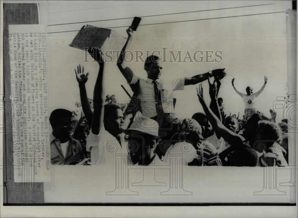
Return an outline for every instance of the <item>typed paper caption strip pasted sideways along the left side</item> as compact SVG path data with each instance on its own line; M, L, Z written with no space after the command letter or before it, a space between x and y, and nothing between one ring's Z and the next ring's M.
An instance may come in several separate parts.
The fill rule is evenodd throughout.
M51 181L46 26L9 25L15 182Z

